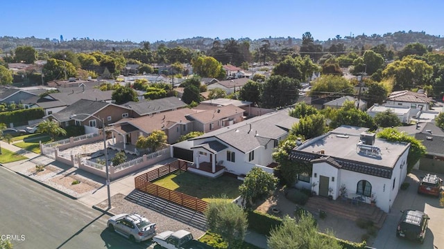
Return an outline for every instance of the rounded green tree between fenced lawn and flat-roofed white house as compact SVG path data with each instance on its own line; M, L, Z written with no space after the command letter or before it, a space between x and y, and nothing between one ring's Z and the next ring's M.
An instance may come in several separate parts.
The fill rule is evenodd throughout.
M268 197L276 189L278 178L264 169L253 167L239 186L239 193L246 205L251 206L257 199Z

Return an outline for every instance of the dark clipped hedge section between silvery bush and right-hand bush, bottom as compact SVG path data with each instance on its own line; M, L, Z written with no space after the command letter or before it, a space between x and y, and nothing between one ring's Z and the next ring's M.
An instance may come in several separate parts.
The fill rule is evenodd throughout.
M265 235L270 234L272 228L282 224L282 219L257 211L248 211L247 219L248 229Z

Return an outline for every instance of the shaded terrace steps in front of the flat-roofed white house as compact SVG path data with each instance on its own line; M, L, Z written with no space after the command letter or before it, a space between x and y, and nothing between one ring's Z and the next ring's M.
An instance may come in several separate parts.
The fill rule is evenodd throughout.
M325 197L313 196L309 198L309 201L304 206L305 209L318 213L319 210L327 212L327 214L333 214L336 216L342 216L345 219L357 221L358 219L367 219L373 221L376 228L382 228L382 224L386 219L387 214L367 203L359 203L359 205L352 204L348 201L341 200L328 200Z

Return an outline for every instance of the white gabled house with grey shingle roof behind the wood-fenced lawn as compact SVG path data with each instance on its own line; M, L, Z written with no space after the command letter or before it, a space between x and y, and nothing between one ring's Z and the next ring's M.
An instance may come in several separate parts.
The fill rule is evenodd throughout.
M210 177L223 172L244 176L253 167L272 173L276 163L271 154L298 121L287 109L257 116L178 142L173 157L193 163L189 171Z

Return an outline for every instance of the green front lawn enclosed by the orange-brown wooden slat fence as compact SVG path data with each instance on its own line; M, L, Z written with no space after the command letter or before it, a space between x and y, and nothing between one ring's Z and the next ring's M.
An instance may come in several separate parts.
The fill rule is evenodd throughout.
M176 172L154 182L156 185L195 196L203 201L210 201L213 196L219 197L223 194L228 199L234 200L239 196L239 185L241 183L236 178L229 176L212 179L189 172Z

